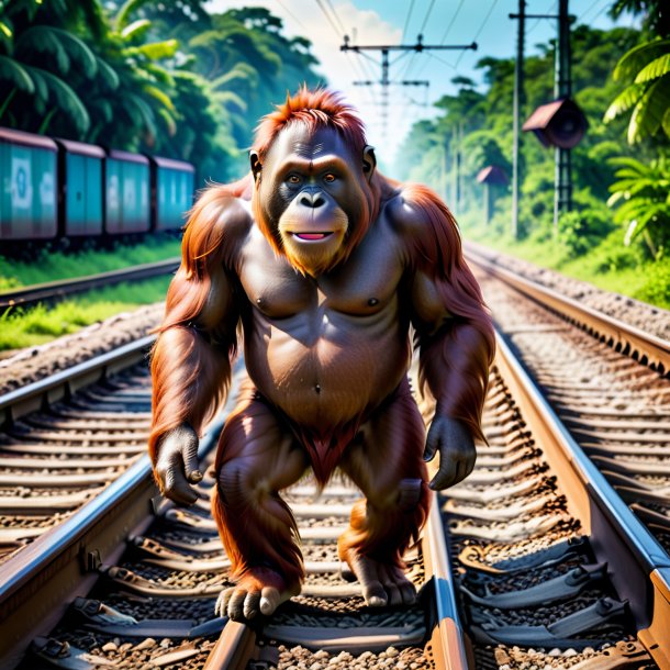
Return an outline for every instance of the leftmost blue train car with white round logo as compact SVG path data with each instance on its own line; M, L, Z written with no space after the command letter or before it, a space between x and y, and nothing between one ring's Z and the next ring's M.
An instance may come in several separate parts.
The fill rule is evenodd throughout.
M57 150L48 137L0 129L0 241L56 236Z

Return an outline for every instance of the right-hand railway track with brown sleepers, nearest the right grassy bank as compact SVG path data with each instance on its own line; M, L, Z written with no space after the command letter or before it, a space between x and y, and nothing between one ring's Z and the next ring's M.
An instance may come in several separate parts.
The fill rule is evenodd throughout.
M485 272L479 280L493 316L545 398L669 550L670 343L582 310L481 256L470 260Z

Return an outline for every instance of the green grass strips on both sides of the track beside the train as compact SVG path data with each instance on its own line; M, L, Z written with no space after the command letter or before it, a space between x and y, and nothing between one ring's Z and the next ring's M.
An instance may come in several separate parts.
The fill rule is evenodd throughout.
M77 253L47 252L20 260L0 256L0 291L57 279L97 275L144 263L175 258L180 242L170 237L146 238L137 245ZM45 344L76 331L165 299L170 277L124 282L74 297L53 306L9 309L0 313L0 351Z

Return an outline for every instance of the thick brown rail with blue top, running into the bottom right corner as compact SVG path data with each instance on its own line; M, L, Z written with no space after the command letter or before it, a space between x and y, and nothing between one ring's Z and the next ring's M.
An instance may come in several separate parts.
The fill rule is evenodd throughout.
M500 334L495 365L595 558L607 563L619 599L628 601L639 641L659 667L670 668L670 557L574 442Z

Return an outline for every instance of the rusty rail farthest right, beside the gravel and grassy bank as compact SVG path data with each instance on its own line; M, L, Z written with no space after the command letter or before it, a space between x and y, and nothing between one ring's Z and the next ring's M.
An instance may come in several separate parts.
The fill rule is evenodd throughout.
M471 244L466 245L466 256L468 260L487 273L500 279L536 303L550 309L559 316L567 319L592 335L607 342L617 350L629 351L640 362L646 362L649 367L662 373L670 373L670 342L667 339L645 333L603 312L580 304L572 298L561 295L558 291L501 268L493 259L488 258Z

